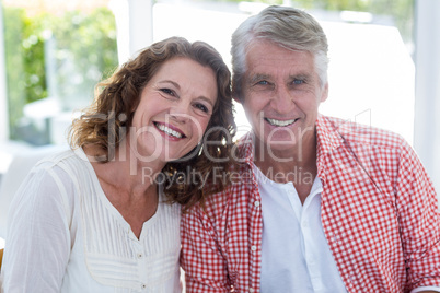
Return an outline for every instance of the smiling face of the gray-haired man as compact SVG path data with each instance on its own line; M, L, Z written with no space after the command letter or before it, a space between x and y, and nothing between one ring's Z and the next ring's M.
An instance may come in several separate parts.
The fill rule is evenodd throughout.
M256 134L256 148L291 152L315 143L317 108L327 98L313 55L292 51L267 40L247 49L243 107Z

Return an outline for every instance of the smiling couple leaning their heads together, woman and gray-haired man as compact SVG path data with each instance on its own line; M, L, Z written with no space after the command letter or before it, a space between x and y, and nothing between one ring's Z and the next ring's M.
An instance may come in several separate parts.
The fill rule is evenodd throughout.
M432 184L398 136L319 114L327 63L285 7L234 32L232 81L201 42L140 52L15 196L4 292L181 292L180 267L188 293L440 292Z

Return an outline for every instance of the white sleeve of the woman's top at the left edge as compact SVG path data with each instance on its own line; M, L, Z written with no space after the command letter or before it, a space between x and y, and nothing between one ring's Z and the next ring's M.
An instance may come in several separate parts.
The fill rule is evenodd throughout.
M26 177L10 206L4 292L60 292L70 255L65 189L53 168Z

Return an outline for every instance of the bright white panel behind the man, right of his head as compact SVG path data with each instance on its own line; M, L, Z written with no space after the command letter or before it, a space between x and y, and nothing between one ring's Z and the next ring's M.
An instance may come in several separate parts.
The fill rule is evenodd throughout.
M321 112L414 138L415 66L394 26L322 22L328 38Z

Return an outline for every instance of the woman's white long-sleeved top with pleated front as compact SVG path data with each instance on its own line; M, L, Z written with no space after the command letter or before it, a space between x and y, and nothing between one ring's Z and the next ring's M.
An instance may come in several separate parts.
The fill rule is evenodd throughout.
M4 291L181 292L181 209L159 194L138 239L82 150L43 160L11 203Z

